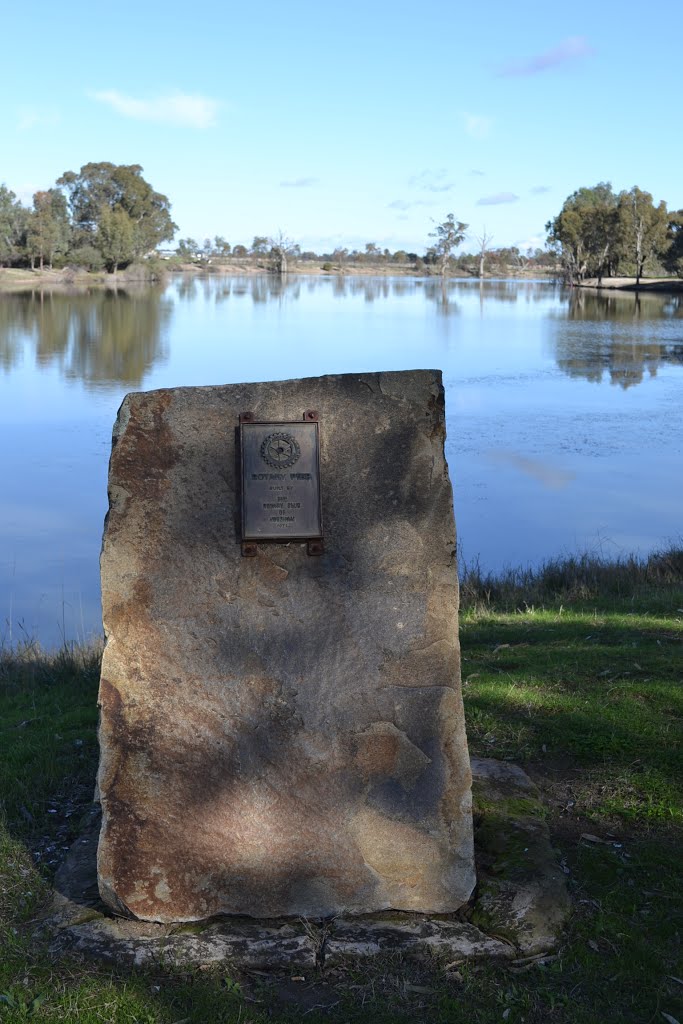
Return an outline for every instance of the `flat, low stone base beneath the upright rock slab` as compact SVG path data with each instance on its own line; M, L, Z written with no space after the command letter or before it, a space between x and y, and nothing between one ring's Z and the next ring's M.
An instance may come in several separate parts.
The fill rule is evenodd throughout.
M116 918L97 892L99 813L93 808L57 871L40 931L55 956L71 951L118 964L228 964L291 973L382 952L440 952L451 962L496 957L526 970L529 959L538 961L560 940L569 910L566 880L528 776L515 765L480 758L472 759L472 773L478 886L476 897L456 914L384 912L325 922L229 916L180 926ZM517 844L510 860L529 817L533 854L527 858L529 850Z

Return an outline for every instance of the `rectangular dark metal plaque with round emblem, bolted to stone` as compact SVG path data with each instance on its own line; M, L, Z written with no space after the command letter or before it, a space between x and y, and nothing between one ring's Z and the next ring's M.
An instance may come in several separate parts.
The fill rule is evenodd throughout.
M242 447L242 540L323 538L317 422L245 422Z

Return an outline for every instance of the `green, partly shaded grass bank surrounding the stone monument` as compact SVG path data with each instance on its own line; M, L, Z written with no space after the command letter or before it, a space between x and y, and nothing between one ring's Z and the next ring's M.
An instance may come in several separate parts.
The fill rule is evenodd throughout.
M29 923L92 793L98 652L27 647L0 657L0 1022L683 1024L683 552L470 570L462 595L471 751L537 780L567 872L555 959L387 955L305 981L52 963Z

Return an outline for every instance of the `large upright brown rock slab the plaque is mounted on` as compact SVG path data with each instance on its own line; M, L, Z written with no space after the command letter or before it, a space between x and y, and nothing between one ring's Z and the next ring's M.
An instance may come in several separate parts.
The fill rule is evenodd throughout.
M239 416L321 418L325 554L241 552ZM128 395L101 556L118 912L455 910L474 885L436 371Z

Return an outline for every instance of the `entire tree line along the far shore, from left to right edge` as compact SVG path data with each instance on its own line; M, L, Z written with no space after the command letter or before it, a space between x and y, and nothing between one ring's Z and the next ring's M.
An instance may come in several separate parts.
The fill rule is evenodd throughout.
M116 273L157 254L176 230L168 198L145 181L138 164L90 163L78 172L65 171L53 187L37 191L29 207L0 184L0 267L69 265ZM433 241L421 255L391 252L374 242L364 249L302 252L283 231L255 236L249 246L231 245L222 236L203 243L185 238L174 255L193 262L251 259L278 273L286 273L295 261L310 260L340 272L347 266L385 265L478 278L561 269L573 283L620 274L637 282L644 274L683 276L683 210L669 211L664 201L655 205L650 193L637 186L617 194L609 182L600 182L572 193L546 224L545 249L494 248L484 229L475 237L473 252L457 254L467 230L467 224L447 214L434 224L429 232Z

